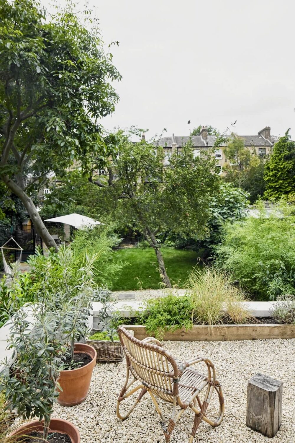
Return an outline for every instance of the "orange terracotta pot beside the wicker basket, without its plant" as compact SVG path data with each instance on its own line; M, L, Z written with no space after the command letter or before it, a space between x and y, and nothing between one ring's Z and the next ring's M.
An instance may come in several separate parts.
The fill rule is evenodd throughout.
M96 350L92 346L76 343L74 353L90 355L92 361L82 368L61 371L58 383L61 386L57 401L62 406L74 406L82 403L88 395L93 368L96 364Z

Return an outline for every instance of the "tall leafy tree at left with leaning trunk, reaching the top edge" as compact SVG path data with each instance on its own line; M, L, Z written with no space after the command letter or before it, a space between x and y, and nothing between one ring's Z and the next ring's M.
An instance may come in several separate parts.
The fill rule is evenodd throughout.
M111 82L120 79L90 12L81 24L73 8L50 15L38 0L0 0L0 177L55 249L32 183L40 188L50 171L60 175L73 159L87 169L89 152L103 155L97 119L114 111Z

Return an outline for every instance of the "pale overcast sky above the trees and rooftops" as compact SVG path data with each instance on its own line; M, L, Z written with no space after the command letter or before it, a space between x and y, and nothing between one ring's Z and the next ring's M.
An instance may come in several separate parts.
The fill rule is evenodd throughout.
M46 0L43 0L46 4ZM80 6L84 4L80 1ZM293 0L89 0L123 76L107 129L295 134ZM188 124L191 120L191 124Z

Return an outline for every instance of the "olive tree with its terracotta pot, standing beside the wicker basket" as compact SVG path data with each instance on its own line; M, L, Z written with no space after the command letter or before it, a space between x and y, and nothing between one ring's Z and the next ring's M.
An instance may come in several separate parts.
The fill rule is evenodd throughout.
M60 366L58 402L63 406L81 403L88 395L96 350L77 341L89 329L92 300L96 284L93 280L97 255L85 254L77 263L70 248L61 247L49 258L36 256L31 260L38 273L36 289L42 312L62 317L60 343L64 345Z

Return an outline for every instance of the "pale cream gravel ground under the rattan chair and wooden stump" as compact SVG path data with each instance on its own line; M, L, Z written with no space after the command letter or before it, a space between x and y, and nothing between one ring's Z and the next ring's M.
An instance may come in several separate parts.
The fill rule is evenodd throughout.
M211 358L222 384L225 396L224 420L216 428L202 422L195 442L295 442L295 339L164 342L163 345L176 358L183 360L197 355ZM284 383L282 425L272 440L245 426L247 381L257 372ZM124 360L119 364L96 365L87 399L73 408L57 404L54 417L75 424L80 430L81 443L165 443L160 417L148 394L127 420L121 421L116 417L116 400L124 380ZM170 405L163 405L163 412L168 418ZM172 433L171 443L188 442L192 423L192 411L185 411Z

